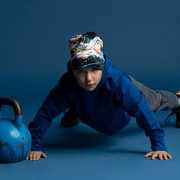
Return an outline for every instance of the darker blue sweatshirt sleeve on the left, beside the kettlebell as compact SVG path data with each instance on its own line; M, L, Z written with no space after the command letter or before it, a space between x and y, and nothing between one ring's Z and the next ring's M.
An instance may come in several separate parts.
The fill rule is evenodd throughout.
M52 124L52 119L69 108L68 98L59 83L48 94L47 98L39 108L34 120L29 124L29 131L32 136L31 151L41 151L41 141L47 129Z

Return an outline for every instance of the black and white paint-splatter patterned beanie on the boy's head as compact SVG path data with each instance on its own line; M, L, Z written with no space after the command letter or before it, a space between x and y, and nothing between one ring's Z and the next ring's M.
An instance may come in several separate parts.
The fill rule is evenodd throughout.
M88 32L73 36L69 40L69 49L73 71L85 67L103 70L103 41L96 33Z

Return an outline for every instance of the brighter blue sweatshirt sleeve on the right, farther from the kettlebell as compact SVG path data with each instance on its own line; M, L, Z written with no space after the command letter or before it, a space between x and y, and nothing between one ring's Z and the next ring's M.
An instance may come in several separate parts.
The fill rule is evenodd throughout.
M122 76L115 94L117 104L130 116L135 117L138 126L145 130L146 136L150 138L152 150L167 151L164 130L160 128L142 92L126 76Z

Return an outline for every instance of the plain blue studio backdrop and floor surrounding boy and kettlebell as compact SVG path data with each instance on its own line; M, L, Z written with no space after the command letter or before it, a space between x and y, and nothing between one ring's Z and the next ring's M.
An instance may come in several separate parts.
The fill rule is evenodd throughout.
M0 96L20 102L28 125L66 72L69 38L88 31L101 36L104 53L115 66L152 89L175 92L180 88L179 22L179 0L1 0ZM3 107L3 113L13 117L9 107ZM174 121L164 125L168 113L156 116L167 133L174 160L143 159L150 144L135 121L109 137L81 123L65 130L59 127L60 115L43 141L48 159L1 164L1 177L22 177L18 173L21 168L26 179L127 180L150 179L152 174L156 174L153 179L175 179L180 160L179 131Z

